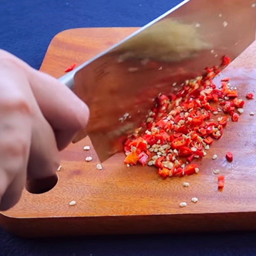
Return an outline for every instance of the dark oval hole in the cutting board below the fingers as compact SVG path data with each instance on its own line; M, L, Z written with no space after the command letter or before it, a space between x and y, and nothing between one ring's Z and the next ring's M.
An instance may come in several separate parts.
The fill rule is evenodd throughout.
M43 194L54 188L58 180L59 176L57 173L44 179L29 180L26 184L26 189L32 194Z

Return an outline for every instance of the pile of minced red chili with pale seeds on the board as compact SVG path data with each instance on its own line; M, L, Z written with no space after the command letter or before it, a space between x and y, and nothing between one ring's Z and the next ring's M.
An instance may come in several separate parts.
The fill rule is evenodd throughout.
M221 66L229 62L224 56ZM160 94L145 127L124 142L124 163L155 165L164 178L197 173L197 164L191 164L193 159L206 155L205 150L222 136L228 116L237 122L239 115L235 111L244 106L228 77L217 88L213 78L218 73L218 66L205 68L202 76L186 81L177 94ZM212 117L220 113L214 121Z

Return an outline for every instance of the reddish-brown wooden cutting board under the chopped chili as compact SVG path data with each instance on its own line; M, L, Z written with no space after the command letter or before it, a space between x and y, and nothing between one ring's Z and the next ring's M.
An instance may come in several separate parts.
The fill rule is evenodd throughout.
M77 28L56 35L41 70L55 77L76 62L78 65L107 49L136 28ZM252 44L223 76L245 98L255 92L256 44ZM68 104L68 102L67 102ZM200 172L162 180L151 167L127 168L124 155L116 154L96 169L97 156L89 138L70 144L61 152L62 169L57 185L44 194L24 190L20 202L2 212L1 225L20 236L64 236L129 233L167 233L256 229L256 112L255 100L246 100L238 123L229 122L223 137L198 161ZM232 151L234 161L225 159ZM212 155L218 158L212 160ZM84 161L92 156L90 163ZM220 169L226 185L217 189ZM182 183L190 183L184 188ZM197 197L194 204L190 200ZM76 205L69 202L75 200ZM180 208L180 202L187 207Z

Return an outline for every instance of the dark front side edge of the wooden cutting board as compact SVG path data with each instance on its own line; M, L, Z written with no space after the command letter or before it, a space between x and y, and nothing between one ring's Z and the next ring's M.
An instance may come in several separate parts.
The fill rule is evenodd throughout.
M256 229L255 212L34 219L1 215L0 221L6 231L20 237L169 234ZM201 222L200 226L198 221Z

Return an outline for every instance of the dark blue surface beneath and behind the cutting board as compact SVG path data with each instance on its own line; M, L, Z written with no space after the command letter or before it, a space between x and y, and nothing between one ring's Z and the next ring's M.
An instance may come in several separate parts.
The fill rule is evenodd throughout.
M50 40L64 29L142 26L179 2L0 0L0 48L38 69ZM244 256L256 255L255 241L255 232L21 239L0 228L0 255Z

